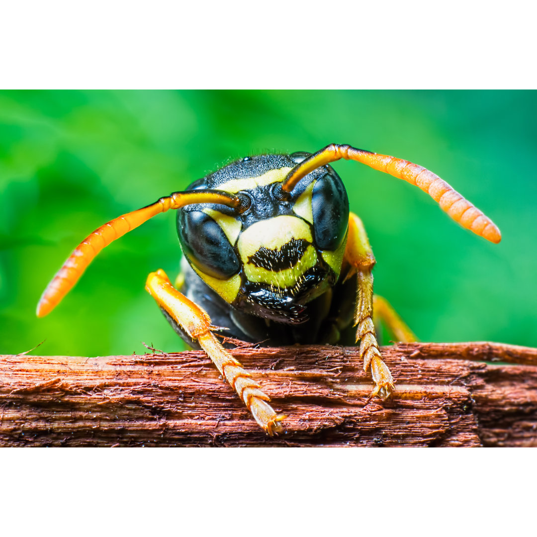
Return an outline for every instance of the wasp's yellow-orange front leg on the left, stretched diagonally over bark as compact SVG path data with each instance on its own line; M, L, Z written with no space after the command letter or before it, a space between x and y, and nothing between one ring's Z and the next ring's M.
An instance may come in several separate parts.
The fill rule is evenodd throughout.
M251 379L250 374L217 341L211 332L216 327L211 325L206 311L177 291L163 270L149 274L146 289L157 304L167 311L192 339L197 340L224 379L244 401L260 427L271 436L280 432L280 422L285 416L274 412L268 403L270 397L259 389L259 384Z

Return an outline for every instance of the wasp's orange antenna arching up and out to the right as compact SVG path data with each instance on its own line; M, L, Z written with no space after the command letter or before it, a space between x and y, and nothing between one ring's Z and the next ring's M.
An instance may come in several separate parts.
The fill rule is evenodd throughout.
M418 186L431 198L438 201L440 208L455 222L459 222L461 226L488 241L498 243L502 240L502 234L500 234L496 224L463 198L459 192L440 179L436 173L417 164L404 161L402 158L371 153L371 151L347 145L332 143L304 159L289 172L281 184L281 189L287 193L291 192L300 179L308 175L309 172L330 162L338 161L340 158L367 164L375 170L389 173L398 179L404 179L410 184Z

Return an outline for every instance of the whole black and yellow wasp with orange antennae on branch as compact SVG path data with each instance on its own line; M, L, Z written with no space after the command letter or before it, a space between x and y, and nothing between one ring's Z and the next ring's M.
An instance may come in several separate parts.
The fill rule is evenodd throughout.
M146 289L173 329L207 353L263 430L280 432L285 416L217 335L266 346L360 341L360 359L375 384L371 396L390 397L394 380L372 318L375 257L329 165L341 158L418 186L463 227L500 241L498 228L479 209L433 172L401 158L346 144L314 154L250 156L93 231L50 281L37 315L60 302L105 246L176 209L182 272L175 286L163 270L152 272ZM375 303L375 314L396 337L415 340L386 301Z

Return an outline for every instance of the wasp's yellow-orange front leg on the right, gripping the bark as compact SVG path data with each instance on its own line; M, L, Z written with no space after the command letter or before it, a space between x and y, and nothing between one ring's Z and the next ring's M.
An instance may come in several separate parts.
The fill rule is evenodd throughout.
M386 400L391 396L394 379L388 366L381 358L379 344L373 325L373 274L375 256L369 245L364 224L354 213L349 215L349 236L345 247L345 261L350 265L345 279L357 275L357 300L354 309L354 324L358 325L356 340L360 339L360 358L364 359L364 371L371 365L375 389L369 398L378 395Z

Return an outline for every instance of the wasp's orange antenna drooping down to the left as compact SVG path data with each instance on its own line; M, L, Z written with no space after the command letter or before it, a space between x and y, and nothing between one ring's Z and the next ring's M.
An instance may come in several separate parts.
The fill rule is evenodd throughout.
M220 190L192 190L174 192L168 197L159 199L154 204L114 218L114 220L88 235L71 253L41 295L37 305L37 316L43 317L50 313L70 291L72 286L76 284L93 258L112 241L122 237L128 231L137 228L159 213L198 203L227 205L237 209L237 211L241 208L241 199L227 192Z

